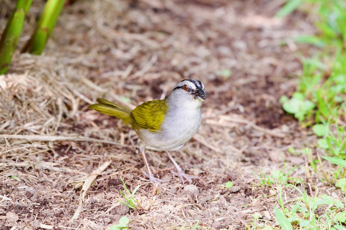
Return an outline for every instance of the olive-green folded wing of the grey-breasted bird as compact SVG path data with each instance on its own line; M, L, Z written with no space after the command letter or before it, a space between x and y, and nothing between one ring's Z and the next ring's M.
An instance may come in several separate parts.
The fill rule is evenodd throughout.
M165 99L148 101L132 110L130 116L139 126L151 131L160 131L167 108Z

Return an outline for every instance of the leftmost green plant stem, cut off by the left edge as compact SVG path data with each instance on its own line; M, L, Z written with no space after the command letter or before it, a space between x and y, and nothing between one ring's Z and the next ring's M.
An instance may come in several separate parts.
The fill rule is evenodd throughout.
M18 0L16 8L9 18L0 40L0 74L4 74L10 66L13 52L17 48L18 39L23 28L25 15L33 0Z

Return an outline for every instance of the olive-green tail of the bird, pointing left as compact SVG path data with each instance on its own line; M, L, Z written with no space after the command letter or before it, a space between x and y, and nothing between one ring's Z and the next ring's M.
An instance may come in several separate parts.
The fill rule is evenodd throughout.
M130 113L132 110L103 98L98 98L97 102L99 103L91 104L89 106L89 109L94 109L96 111L99 111L100 113L117 117L121 119L125 124L131 127L133 120L130 116Z

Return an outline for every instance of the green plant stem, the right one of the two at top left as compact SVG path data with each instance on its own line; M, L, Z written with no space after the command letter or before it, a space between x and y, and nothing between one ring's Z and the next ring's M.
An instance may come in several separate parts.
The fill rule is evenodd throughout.
M36 24L33 36L25 45L22 52L29 51L32 54L40 55L46 46L48 38L51 36L56 21L66 0L48 0L39 21Z

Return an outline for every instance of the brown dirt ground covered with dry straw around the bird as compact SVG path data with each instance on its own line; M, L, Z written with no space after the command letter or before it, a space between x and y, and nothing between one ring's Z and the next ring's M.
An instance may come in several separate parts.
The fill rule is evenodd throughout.
M254 173L282 170L283 158L286 170L298 165L293 176L306 177L308 157L288 148L313 148L316 141L278 102L294 92L302 69L298 50L309 48L293 37L315 32L301 12L275 18L283 2L81 0L65 6L43 55L17 51L8 74L0 76L1 230L106 229L122 216L130 229L197 223L245 229L257 212L278 227L277 197ZM6 4L13 7L0 2L1 31L10 13ZM42 4L34 1L20 47ZM166 154L147 151L155 176L168 182L164 188L143 176L136 133L87 106L98 97L128 106L163 99L186 78L205 85L203 121L171 154L198 179L186 187L170 172ZM93 173L84 208L71 221L81 185ZM134 195L139 208L122 204L120 177L130 191L140 185ZM231 189L224 187L228 181ZM319 189L332 192L325 190Z

